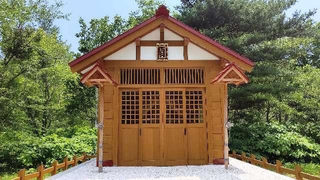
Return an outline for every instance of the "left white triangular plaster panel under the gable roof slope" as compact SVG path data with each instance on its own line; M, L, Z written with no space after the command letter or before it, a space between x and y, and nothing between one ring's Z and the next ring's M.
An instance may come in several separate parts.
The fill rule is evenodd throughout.
M135 60L135 42L105 57L104 60Z

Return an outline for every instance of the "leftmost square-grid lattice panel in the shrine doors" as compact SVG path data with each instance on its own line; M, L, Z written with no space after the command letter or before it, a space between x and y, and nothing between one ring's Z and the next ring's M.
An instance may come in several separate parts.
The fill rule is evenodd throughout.
M139 91L122 91L121 124L139 123Z

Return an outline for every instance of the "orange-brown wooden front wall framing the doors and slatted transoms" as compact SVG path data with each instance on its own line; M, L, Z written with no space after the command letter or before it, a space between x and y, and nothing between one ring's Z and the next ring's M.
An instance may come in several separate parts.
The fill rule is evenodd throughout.
M107 72L118 81L121 68L160 68L159 84L120 84L116 87L105 85L104 87L104 128L103 128L103 160L112 160L114 165L118 165L118 121L119 121L119 88L141 88L141 87L202 87L205 89L205 109L207 127L207 153L208 163L214 159L223 159L223 86L220 84L211 85L209 82L220 70L220 61L215 60L181 60L156 62L151 60L104 60L103 66ZM125 62L125 63L123 63ZM127 62L127 63L126 63ZM159 67L160 66L160 67ZM165 84L165 68L194 68L204 69L203 84ZM222 102L221 102L222 101Z

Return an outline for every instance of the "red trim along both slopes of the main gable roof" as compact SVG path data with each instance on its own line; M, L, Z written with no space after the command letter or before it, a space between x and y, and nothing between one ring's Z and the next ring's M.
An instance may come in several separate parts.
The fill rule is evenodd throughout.
M252 61L250 61L249 59L247 59L247 58L243 57L242 55L236 53L235 51L233 51L233 50L231 50L231 49L229 49L229 48L221 45L220 43L212 40L212 39L209 38L208 36L205 36L205 35L201 34L200 32L192 29L191 27L185 25L184 23L180 22L179 20L177 20L177 19L175 19L175 18L173 18L173 17L171 17L171 16L164 16L164 15L157 15L157 16L156 16L156 15L154 15L154 16L150 17L149 19L145 20L144 22L140 23L139 25L137 25L137 26L135 26L135 27L132 27L131 29L127 30L126 32L124 32L124 33L122 33L122 34L114 37L114 38L111 39L110 41L108 41L108 42L106 42L106 43L104 43L104 44L96 47L95 49L91 50L90 52L88 52L88 53L86 53L86 54L83 54L82 56L74 59L73 61L71 61L71 62L68 63L69 66L71 67L71 66L75 65L76 63L82 61L83 59L85 59L85 58L87 58L87 57L89 57L89 56L91 56L91 55L99 52L100 50L106 48L107 46L115 43L116 41L120 40L121 38L123 38L123 37L131 34L132 32L138 30L139 28L141 28L141 27L149 24L150 22L152 22L152 21L154 21L154 20L156 20L157 18L160 18L160 17L166 18L166 19L168 19L168 20L176 23L177 25L179 25L179 26L181 26L182 28L190 31L191 33L197 35L198 37L206 40L207 42L211 43L212 45L214 45L214 46L220 48L221 50L229 53L230 55L232 55L232 56L240 59L240 60L243 61L244 63L246 63L246 64L248 64L248 65L250 65L250 66L253 66L253 65L254 65L254 63L253 63Z

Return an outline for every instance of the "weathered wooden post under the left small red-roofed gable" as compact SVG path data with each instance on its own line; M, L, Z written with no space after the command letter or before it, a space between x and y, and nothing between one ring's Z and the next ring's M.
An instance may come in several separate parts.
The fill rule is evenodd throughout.
M99 85L99 154L98 154L98 172L102 172L102 143L103 143L103 85Z

